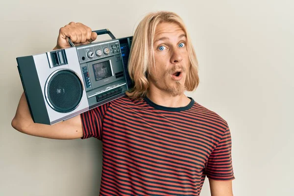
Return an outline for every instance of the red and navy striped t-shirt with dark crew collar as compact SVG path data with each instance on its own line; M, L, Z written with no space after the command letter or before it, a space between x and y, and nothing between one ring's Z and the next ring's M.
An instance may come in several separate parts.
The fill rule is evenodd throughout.
M235 179L228 124L193 98L164 107L126 96L81 114L102 141L100 196L199 196L205 176Z

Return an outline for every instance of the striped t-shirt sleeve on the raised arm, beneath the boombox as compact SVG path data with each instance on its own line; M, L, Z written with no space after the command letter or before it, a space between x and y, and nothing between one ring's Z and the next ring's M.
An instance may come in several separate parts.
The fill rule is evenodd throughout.
M80 114L84 136L81 139L95 137L102 140L102 125L110 102Z

